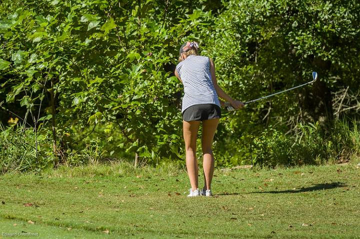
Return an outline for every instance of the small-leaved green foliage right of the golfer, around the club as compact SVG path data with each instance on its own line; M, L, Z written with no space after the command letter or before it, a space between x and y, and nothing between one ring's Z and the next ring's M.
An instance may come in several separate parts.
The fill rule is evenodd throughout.
M326 156L340 154L343 147L330 150L317 144L329 141L329 133L319 131L334 124L333 93L347 86L353 92L359 90L359 2L230 0L223 4L225 10L214 24L202 30L208 35L203 38L205 53L215 59L218 82L231 96L256 99L308 82L312 71L319 73L319 80L312 87L252 103L225 116L217 155L225 156L226 162L237 158L237 163L251 163L253 151L260 164L292 165L321 163ZM357 111L342 117L356 120ZM321 123L319 131L302 129L310 141L300 147L298 127L309 122ZM335 137L331 141L339 145ZM294 159L295 153L286 152L290 146L307 153L295 150L299 153ZM314 160L316 156L321 159Z

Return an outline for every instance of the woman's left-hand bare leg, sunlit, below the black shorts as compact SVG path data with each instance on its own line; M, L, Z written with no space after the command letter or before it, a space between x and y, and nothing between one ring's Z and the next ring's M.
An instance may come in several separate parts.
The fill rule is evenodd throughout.
M186 169L191 190L198 188L198 167L196 160L196 138L200 121L183 121L183 137L185 141Z

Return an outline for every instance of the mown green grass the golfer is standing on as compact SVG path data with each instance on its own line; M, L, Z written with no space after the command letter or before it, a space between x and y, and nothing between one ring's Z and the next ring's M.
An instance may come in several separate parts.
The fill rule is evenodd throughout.
M360 238L360 169L354 164L217 170L212 198L186 198L186 173L173 166L5 174L0 231L41 239Z

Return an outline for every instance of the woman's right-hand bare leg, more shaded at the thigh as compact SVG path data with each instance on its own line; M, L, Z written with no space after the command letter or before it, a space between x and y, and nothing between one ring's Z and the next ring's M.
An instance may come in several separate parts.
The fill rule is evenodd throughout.
M212 175L214 171L214 158L212 154L212 140L218 125L219 119L204 120L202 123L202 154L203 154L203 172L204 189L211 189Z

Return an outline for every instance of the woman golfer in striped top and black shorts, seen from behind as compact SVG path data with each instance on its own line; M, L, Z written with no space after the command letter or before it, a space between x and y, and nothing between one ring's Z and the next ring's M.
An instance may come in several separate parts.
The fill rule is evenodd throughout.
M180 47L179 63L175 75L184 86L182 99L183 138L186 151L186 169L191 189L187 197L211 196L211 180L214 158L211 150L212 140L221 117L218 97L231 103L235 108L243 103L233 100L218 85L213 61L197 53L196 42L185 42ZM203 154L204 186L198 189L198 167L196 160L196 137L202 121L201 147Z

